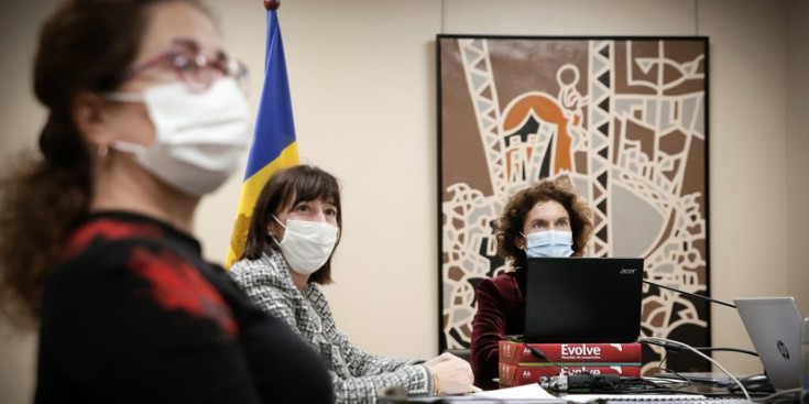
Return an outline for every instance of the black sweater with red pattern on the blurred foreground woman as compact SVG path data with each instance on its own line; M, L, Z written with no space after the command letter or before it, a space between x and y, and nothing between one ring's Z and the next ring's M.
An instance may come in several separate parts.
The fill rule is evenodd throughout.
M47 279L36 403L332 400L320 357L164 222L92 214Z

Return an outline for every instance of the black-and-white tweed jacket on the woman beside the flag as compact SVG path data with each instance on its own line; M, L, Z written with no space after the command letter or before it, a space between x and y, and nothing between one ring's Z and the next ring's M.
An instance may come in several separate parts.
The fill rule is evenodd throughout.
M303 293L298 291L280 252L241 260L229 274L261 309L286 321L320 352L338 403L375 403L376 390L393 385L404 386L409 394L433 392L433 374L427 367L414 360L369 354L351 343L337 330L320 288L307 283Z

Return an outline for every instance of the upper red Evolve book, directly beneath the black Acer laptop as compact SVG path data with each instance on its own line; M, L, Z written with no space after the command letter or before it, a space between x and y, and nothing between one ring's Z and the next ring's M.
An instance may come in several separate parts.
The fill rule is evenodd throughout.
M535 356L527 346L538 349L545 357ZM523 343L500 341L500 362L509 364L526 363L639 363L641 343Z

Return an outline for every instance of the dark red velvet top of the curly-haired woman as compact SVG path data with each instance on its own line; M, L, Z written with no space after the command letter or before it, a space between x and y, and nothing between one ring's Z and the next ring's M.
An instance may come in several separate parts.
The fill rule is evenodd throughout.
M498 376L498 345L507 335L525 328L525 270L517 269L478 285L478 313L472 320L472 371L474 384L493 389Z

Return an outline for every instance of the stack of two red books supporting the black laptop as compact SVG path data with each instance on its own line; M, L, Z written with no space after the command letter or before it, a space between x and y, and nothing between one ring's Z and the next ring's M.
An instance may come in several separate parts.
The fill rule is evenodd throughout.
M555 362L555 363L554 363ZM641 375L641 343L523 343L500 341L501 387L559 374Z

